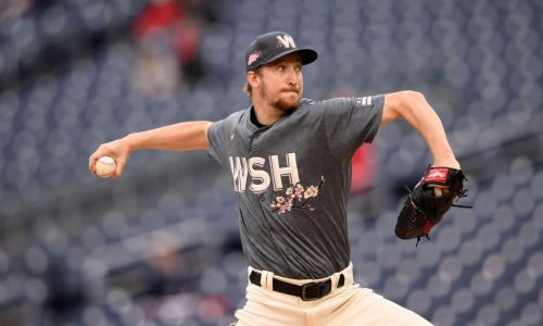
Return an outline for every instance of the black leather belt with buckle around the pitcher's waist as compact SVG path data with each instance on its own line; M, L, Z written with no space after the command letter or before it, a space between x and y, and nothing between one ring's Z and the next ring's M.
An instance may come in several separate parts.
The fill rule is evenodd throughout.
M261 286L261 273L252 271L249 275L249 279L252 284ZM341 288L343 285L345 285L345 276L343 276L343 274L340 274L338 288ZM330 278L324 281L312 281L304 285L290 284L274 278L274 291L300 297L304 301L320 299L330 293L331 290L332 280Z

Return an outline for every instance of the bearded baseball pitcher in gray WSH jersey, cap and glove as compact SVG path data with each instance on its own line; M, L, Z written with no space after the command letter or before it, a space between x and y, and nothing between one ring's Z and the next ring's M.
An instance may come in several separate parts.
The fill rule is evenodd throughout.
M346 208L353 153L380 126L403 118L425 139L433 164L411 192L395 231L427 236L464 195L442 123L416 91L303 98L302 67L316 59L286 33L261 35L245 54L250 108L214 123L179 123L103 143L89 170L96 173L97 160L110 155L121 176L141 149L207 150L224 166L249 263L247 303L235 325L430 325L355 283Z

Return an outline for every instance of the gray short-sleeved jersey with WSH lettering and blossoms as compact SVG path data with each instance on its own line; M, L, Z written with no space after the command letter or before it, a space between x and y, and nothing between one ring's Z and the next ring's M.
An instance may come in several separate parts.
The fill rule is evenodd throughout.
M306 279L349 265L351 158L377 134L383 102L302 99L270 126L252 123L252 108L210 126L210 154L231 175L251 266Z

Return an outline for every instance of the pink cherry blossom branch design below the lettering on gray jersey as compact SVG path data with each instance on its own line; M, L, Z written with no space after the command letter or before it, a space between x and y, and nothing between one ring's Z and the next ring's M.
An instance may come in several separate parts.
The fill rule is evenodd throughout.
M308 186L305 188L302 184L298 183L291 185L285 190L285 196L276 197L276 200L269 204L273 209L272 212L279 211L279 214L290 212L292 209L314 211L311 201L318 196L318 191L323 188L325 177L320 177L318 186Z

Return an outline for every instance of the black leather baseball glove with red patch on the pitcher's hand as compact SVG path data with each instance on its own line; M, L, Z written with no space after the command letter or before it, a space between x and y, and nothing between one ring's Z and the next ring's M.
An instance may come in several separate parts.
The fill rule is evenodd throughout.
M451 206L470 208L453 204L457 198L466 197L464 190L466 176L462 170L441 166L428 166L420 181L413 188L407 187L409 196L397 216L396 236L401 239L417 238L417 246L421 237L428 237L433 226L441 222ZM444 195L437 197L434 187L446 188Z

